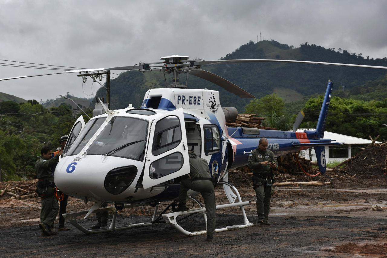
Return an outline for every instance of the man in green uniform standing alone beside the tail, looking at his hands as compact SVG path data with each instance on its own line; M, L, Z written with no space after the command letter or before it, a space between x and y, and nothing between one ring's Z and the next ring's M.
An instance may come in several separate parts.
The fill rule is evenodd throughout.
M257 196L258 223L269 226L271 188L274 183L272 169L277 168L274 153L267 149L267 139L259 140L258 148L248 157L248 167L253 171L253 187Z

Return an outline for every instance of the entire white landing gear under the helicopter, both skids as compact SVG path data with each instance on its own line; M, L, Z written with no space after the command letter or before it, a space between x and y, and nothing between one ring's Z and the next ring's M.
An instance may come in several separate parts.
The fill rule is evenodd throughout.
M228 185L230 188L232 188L235 191L239 202L216 205L216 209L219 210L221 208L239 206L241 208L241 211L242 211L244 224L241 224L241 225L237 224L237 225L233 225L233 226L221 227L221 228L215 229L215 232L223 232L223 231L253 226L253 224L248 221L248 219L246 217L245 209L243 208L244 205L248 205L251 202L250 201L242 202L240 195L239 195L239 192L238 192L238 190L236 190L235 186L233 186L227 182L223 182L223 181L219 182L219 184ZM130 229L130 228L134 228L134 227L147 227L147 226L152 226L156 223L170 224L171 226L175 227L175 229L177 229L179 232L182 232L186 236L197 236L197 235L205 234L207 232L207 229L202 230L202 231L190 232L190 231L186 231L178 224L178 222L180 222L184 219L187 219L188 217L190 217L196 213L201 213L201 214L203 214L203 219L204 219L205 225L207 225L207 215L205 214L205 207L203 207L202 203L200 203L196 198L194 198L192 196L188 196L188 198L190 200L192 200L194 203L196 203L197 205L199 205L200 208L194 208L194 209L190 209L190 210L187 210L184 212L165 213L170 207L173 207L175 205L175 202L173 202L170 205L168 205L161 212L161 214L158 215L159 203L156 203L156 206L155 206L154 212L153 212L153 216L152 216L152 219L150 222L130 224L128 226L120 226L120 227L115 226L116 217L117 217L117 209L115 207L98 208L98 209L92 210L92 212L91 212L91 213L96 213L96 212L104 212L104 211L109 211L109 210L114 211L110 226L106 229L96 229L96 230L86 229L85 227L83 227L82 225L80 225L78 223L77 217L87 214L89 212L89 210L83 210L80 212L71 212L71 213L63 214L63 217L65 217L65 220L68 223L72 224L74 227L76 227L80 231L84 232L85 234L111 232L111 231L116 231L116 230L120 230L120 229ZM134 208L134 207L139 207L139 206L143 206L143 205L142 204L126 204L123 206L123 208ZM186 216L182 217L181 219L177 219L178 216L182 216L182 215L186 215ZM162 221L163 219L165 221Z

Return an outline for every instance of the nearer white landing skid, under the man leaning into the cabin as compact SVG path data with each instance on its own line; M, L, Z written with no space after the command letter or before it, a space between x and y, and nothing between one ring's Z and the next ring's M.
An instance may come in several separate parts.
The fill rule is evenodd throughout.
M233 226L221 227L221 228L215 229L215 233L223 232L223 231L229 231L229 230L234 230L234 229L241 229L241 228L244 228L244 227L251 227L251 226L253 226L254 224L252 224L252 223L250 223L248 221L247 216L246 216L246 212L245 212L245 208L243 207L244 205L250 205L251 201L242 202L241 196L240 196L238 190L235 188L235 186L231 185L230 183L224 182L224 181L219 181L218 184L228 185L231 189L233 189L235 191L235 193L236 193L237 198L238 198L238 202L216 205L216 210L219 210L221 208L238 207L239 206L241 211L242 211L244 224L241 224L241 225L240 224L236 224L236 225L233 225ZM202 205L200 205L200 206L202 206ZM177 219L177 217L180 216L180 215L192 215L194 213L199 213L199 212L202 212L205 215L205 207L201 207L201 208L197 208L197 209L192 209L192 210L187 210L187 211L184 211L184 212L167 213L167 214L163 214L162 216L163 216L163 218L165 219L165 221L168 224L171 224L171 226L173 226L175 229L177 229L179 232L183 233L184 235L186 235L186 236L199 236L199 235L207 233L207 217L205 217L206 229L205 230L201 230L201 231L195 231L195 232L190 232L190 231L187 231L187 230L183 229L178 224L178 222L180 220Z

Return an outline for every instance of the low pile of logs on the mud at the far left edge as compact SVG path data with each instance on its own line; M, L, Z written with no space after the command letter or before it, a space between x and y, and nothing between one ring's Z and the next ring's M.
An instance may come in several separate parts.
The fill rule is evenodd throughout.
M21 183L19 185L13 185L10 184L5 186L4 189L0 190L0 198L7 197L10 199L22 199L22 198L35 198L38 196L38 194L35 192L36 190L36 183L38 183L38 180L34 180L32 183L31 181L27 183Z

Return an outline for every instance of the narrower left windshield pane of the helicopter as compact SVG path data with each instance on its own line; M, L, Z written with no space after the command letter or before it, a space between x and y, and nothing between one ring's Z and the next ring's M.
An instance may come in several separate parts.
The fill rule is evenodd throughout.
M89 120L74 143L69 146L69 150L66 152L65 156L77 155L83 149L83 147L85 147L90 138L94 135L94 133L97 132L105 120L106 117Z

